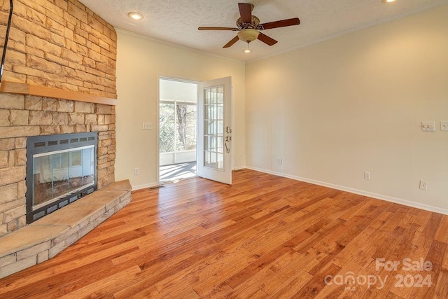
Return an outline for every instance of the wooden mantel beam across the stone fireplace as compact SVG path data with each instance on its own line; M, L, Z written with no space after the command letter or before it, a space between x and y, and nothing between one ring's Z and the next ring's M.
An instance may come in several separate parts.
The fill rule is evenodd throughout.
M116 99L109 97L100 97L83 92L74 92L71 90L61 90L57 88L48 88L46 86L30 85L27 83L15 83L2 81L0 92L16 93L20 95L36 95L39 97L52 97L55 99L69 99L73 101L89 102L96 104L113 105L117 104Z

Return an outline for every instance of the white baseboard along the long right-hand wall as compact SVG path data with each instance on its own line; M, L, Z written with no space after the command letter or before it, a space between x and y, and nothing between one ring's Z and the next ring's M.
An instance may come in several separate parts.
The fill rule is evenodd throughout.
M318 185L318 186L324 186L324 187L328 187L328 188L346 191L349 193L372 197L372 198L376 198L377 200L386 200L386 202L394 202L395 204L402 204L407 207L413 207L413 208L417 208L417 209L423 209L426 211L433 211L435 213L448 215L448 209L434 207L434 206L430 206L428 204L421 204L419 202L411 202L409 200L403 200L401 198L391 197L391 196L387 196L387 195L381 195L381 194L377 194L377 193L370 193L370 192L363 191L363 190L358 190L358 189L349 188L349 187L345 187L345 186L339 186L339 185L335 185L332 183L325 183L323 181L316 181L314 179L307 179L307 178L303 178L300 176L292 176L290 174L283 174L281 172L273 172L271 170L261 169L261 168L257 168L257 167L246 167L246 168L255 170L257 172L264 172L266 174L274 174L276 176L282 176L282 177L285 177L288 179L294 179L296 181L304 181L307 183L313 183L314 185Z

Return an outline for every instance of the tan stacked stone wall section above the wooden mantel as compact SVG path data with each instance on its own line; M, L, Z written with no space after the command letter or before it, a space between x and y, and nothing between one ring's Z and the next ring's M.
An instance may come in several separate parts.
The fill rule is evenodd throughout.
M115 29L79 1L15 0L3 80L116 99L116 54Z

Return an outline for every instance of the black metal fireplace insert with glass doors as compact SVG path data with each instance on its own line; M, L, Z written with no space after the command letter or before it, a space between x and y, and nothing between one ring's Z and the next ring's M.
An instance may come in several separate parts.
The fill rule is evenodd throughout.
M98 132L27 138L27 223L97 189Z

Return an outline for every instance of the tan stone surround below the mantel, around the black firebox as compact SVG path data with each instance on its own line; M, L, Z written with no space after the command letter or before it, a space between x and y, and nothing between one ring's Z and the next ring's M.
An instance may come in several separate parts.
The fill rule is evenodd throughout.
M19 109L20 108L20 109ZM27 137L97 132L98 189L115 181L115 109L104 104L0 93L0 236L27 224Z

